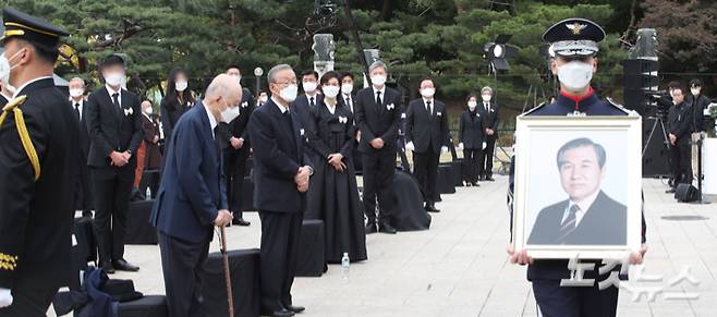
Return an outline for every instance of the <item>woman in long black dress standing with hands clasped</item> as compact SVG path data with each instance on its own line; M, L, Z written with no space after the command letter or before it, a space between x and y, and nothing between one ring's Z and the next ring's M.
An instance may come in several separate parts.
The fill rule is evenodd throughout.
M326 73L320 85L324 101L312 111L316 132L308 144L324 161L316 162L307 209L318 211L324 220L328 263L341 263L343 253L349 253L351 261L365 260L364 215L351 159L353 114L337 100L341 86L338 73Z

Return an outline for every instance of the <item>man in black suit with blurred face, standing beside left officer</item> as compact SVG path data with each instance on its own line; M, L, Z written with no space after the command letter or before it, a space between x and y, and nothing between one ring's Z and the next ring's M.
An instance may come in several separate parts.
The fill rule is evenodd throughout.
M100 266L137 271L124 259L124 232L130 192L137 164L135 154L142 142L139 97L122 88L124 59L111 54L102 61L105 85L87 99L87 130L90 179L95 188L95 235Z

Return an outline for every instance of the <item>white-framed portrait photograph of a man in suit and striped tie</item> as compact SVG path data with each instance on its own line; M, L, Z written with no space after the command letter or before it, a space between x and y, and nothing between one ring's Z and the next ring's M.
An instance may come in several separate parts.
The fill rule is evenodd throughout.
M518 117L513 244L533 258L640 249L642 119Z

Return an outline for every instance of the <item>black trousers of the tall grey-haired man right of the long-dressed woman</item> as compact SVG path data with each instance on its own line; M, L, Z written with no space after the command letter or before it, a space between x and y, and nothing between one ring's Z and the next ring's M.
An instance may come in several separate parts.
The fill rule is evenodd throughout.
M362 156L364 175L364 214L368 223L376 222L376 200L378 200L378 220L388 222L393 196L391 182L396 173L396 151L380 151Z

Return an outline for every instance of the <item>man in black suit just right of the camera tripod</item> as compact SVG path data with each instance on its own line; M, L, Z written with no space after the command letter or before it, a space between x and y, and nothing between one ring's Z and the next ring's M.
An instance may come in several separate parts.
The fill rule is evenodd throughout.
M670 142L672 187L667 193L675 193L680 183L692 184L692 125L694 111L692 105L684 101L684 87L678 82L669 84L672 107L667 113L667 131Z

